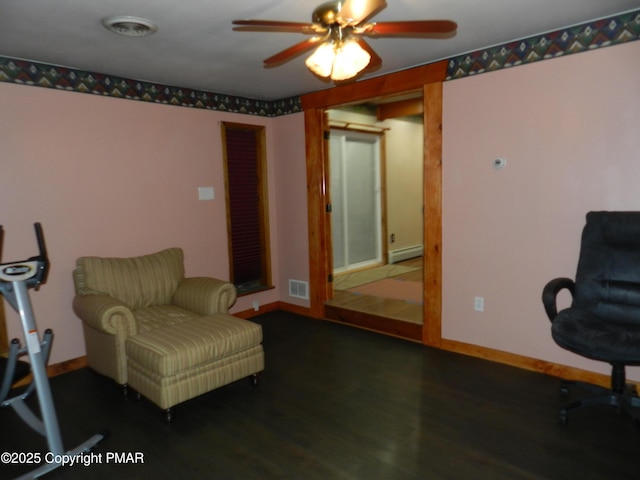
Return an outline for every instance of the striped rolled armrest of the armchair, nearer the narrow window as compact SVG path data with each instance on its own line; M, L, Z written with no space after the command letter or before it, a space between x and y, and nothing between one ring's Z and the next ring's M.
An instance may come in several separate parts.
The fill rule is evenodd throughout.
M209 277L185 278L173 296L173 304L200 315L228 313L236 302L236 287Z

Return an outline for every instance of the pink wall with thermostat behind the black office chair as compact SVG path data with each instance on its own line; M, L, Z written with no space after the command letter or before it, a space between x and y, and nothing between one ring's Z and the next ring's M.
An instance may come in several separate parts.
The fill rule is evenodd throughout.
M574 276L587 211L640 209L638 59L632 42L445 83L444 338L609 372L555 346L540 295Z

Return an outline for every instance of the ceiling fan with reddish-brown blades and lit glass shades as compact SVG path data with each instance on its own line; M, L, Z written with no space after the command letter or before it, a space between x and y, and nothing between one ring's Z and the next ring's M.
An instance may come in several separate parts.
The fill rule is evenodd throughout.
M311 37L264 60L276 67L315 48L305 61L322 78L336 82L379 68L382 59L363 37L443 37L458 25L451 20L369 22L387 6L385 0L339 0L323 3L311 23L278 20L234 20L236 31L302 33Z

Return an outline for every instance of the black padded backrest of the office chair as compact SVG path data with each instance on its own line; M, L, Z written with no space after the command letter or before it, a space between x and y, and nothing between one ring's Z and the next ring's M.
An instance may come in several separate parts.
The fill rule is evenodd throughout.
M589 212L573 307L640 324L640 212Z

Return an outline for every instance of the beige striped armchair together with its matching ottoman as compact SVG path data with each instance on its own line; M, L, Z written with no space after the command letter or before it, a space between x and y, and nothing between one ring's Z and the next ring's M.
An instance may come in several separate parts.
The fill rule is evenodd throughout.
M173 418L173 407L264 369L262 328L230 315L233 284L185 278L183 251L81 257L73 309L89 367Z

